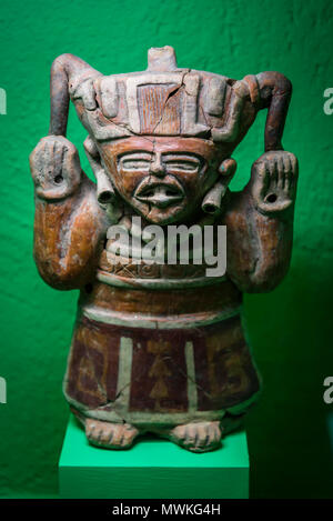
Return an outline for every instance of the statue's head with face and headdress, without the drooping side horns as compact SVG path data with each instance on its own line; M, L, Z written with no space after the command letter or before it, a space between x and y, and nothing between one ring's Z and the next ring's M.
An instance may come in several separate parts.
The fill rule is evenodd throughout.
M94 90L97 109L82 120L127 203L160 224L190 219L201 207L219 210L235 163L219 168L242 133L235 112L243 83L232 93L224 77L179 69L165 47L150 49L147 71L98 77ZM210 197L202 202L214 183L215 204Z

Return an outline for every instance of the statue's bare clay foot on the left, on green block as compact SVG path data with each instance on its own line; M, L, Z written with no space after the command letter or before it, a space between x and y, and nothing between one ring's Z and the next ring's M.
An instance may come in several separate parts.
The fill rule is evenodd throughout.
M129 449L139 434L138 429L129 423L85 420L85 435L90 443L105 449Z

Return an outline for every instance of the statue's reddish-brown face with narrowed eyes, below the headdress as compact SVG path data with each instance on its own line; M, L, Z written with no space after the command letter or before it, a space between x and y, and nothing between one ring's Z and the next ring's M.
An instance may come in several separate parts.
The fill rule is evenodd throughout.
M216 149L203 139L135 137L100 151L120 196L159 224L190 218L216 179Z

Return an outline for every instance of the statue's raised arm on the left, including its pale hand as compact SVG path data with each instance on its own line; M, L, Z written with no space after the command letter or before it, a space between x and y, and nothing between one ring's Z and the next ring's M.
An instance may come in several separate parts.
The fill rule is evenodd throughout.
M36 189L34 260L57 289L81 289L94 278L108 220L97 187L65 138L40 140L30 156Z

